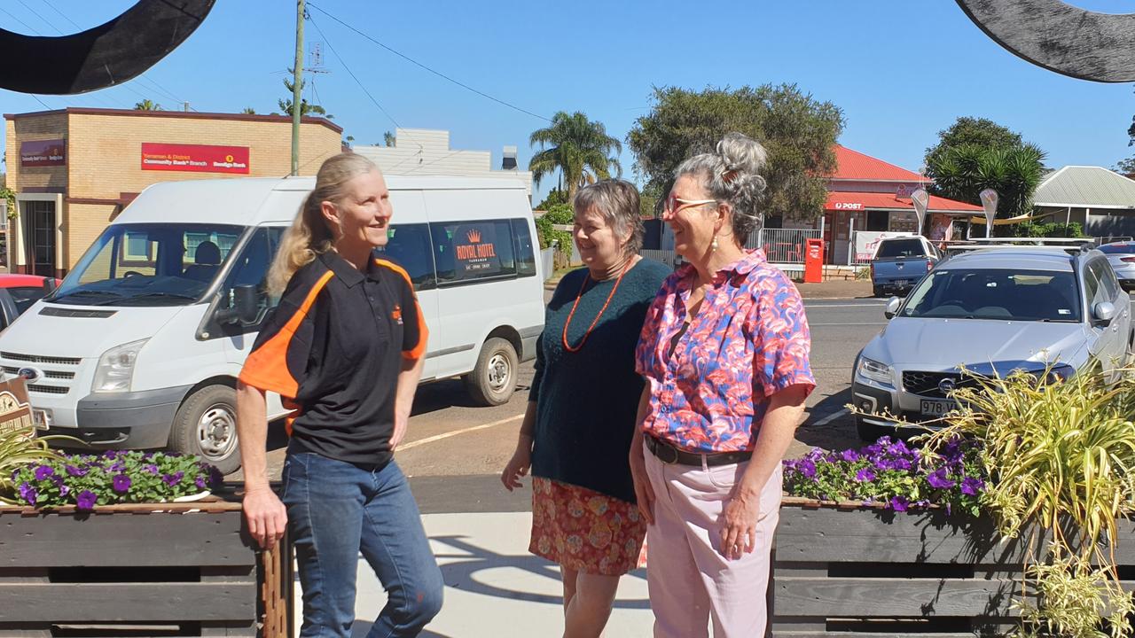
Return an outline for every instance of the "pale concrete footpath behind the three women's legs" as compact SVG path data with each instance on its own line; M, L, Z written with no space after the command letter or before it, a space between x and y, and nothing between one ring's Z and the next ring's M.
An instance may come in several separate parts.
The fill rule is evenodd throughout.
M528 512L422 514L445 578L442 613L423 638L529 638L563 632L556 565L528 553ZM296 582L296 633L302 603ZM352 637L362 638L386 603L386 594L360 557ZM646 571L622 578L605 636L648 637L654 616Z

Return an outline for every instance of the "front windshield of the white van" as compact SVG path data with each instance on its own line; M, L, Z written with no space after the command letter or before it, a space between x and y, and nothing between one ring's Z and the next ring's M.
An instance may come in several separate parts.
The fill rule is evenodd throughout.
M217 277L243 226L116 224L45 301L77 305L187 305Z

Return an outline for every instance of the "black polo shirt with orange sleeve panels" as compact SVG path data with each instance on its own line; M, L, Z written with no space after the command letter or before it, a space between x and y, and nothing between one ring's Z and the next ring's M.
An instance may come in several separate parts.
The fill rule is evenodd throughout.
M328 252L292 276L239 378L297 410L289 452L381 465L402 360L421 358L427 336L405 270L372 253L363 274Z

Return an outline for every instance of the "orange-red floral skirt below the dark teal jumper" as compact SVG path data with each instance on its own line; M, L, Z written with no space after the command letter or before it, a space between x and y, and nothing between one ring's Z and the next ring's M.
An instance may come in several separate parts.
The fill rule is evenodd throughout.
M646 520L638 506L556 480L532 477L528 551L583 573L621 576L639 562Z

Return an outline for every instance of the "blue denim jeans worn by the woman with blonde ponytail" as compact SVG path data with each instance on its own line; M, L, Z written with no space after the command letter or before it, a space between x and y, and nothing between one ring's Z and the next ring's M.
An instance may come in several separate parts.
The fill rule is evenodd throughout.
M442 571L402 469L288 454L284 504L303 586L301 637L351 636L362 552L388 599L368 638L411 637L442 608Z

